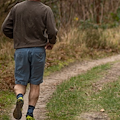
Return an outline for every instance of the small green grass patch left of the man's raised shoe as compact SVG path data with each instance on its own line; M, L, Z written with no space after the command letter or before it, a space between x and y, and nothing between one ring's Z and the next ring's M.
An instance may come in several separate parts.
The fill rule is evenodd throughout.
M9 111L15 101L15 94L10 91L0 91L0 120L10 120Z

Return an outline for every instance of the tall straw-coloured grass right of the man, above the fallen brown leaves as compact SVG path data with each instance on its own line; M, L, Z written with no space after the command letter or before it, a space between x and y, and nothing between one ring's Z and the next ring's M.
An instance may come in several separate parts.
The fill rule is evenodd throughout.
M61 35L60 35L61 36ZM60 43L65 43L70 46L84 46L86 49L94 48L98 50L112 49L119 51L120 45L120 27L112 29L86 29L81 30L72 28L69 32L64 33L59 37ZM82 47L83 48L83 47ZM82 49L81 49L82 51Z

